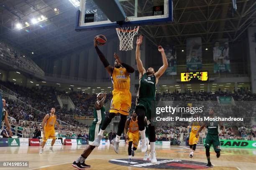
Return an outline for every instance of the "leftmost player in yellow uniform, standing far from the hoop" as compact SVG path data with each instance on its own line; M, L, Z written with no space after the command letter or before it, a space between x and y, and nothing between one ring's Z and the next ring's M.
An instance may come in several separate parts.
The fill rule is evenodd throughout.
M54 145L55 140L56 140L54 125L56 123L56 125L61 127L59 125L59 123L56 121L56 115L54 113L55 113L55 107L52 107L51 108L51 113L45 115L44 120L42 122L44 138L43 138L42 148L40 148L40 152L39 153L43 153L44 152L44 145L45 145L46 141L49 138L52 139L50 150L53 152L52 146Z

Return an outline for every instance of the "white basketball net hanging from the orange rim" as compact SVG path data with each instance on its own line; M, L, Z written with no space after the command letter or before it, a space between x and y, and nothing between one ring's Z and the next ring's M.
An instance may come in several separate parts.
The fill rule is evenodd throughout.
M120 50L128 51L133 49L133 37L138 34L139 28L140 26L134 28L115 28L120 40Z

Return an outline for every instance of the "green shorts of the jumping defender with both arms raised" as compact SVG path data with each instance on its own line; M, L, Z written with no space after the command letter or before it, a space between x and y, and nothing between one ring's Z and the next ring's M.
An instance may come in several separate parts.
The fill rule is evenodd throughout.
M135 108L135 110L137 110L138 108L143 108L145 110L145 116L149 121L151 121L151 112L152 112L151 102L152 101L154 100L147 99L147 98L138 99L136 103L136 108Z

